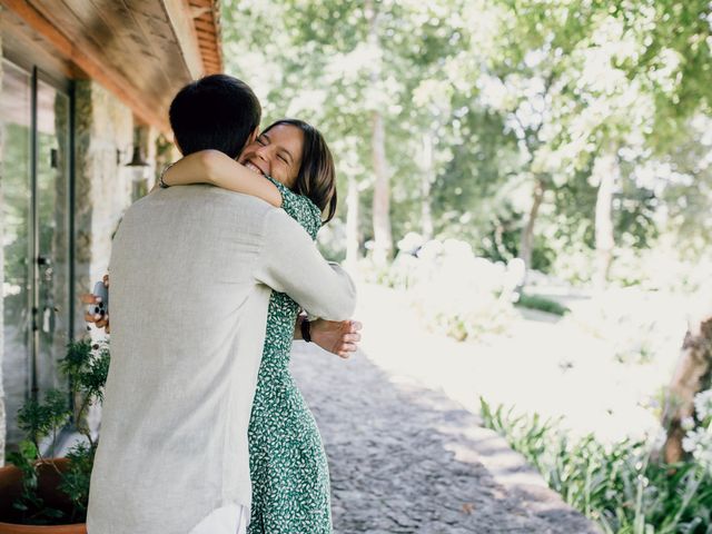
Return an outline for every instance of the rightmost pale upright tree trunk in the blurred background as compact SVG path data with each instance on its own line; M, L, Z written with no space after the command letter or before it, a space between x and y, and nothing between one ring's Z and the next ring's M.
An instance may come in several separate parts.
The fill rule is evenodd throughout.
M594 286L603 289L609 279L615 238L613 236L613 192L620 176L616 150L602 154L593 166L593 174L597 178L599 194L596 196L596 260L593 275Z

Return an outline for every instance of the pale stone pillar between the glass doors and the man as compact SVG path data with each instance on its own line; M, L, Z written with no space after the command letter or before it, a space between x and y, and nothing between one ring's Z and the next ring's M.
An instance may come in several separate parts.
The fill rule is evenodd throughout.
M91 80L76 85L75 288L90 291L107 273L111 240L131 201L134 149L131 110ZM75 324L83 327L83 308Z

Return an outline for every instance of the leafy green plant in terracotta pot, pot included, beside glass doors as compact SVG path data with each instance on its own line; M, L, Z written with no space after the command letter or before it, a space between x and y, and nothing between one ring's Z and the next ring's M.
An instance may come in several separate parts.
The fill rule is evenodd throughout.
M0 534L85 534L89 478L97 443L87 411L103 398L109 370L106 343L72 342L59 368L69 392L49 390L42 400L29 399L18 413L26 434L11 465L0 468ZM70 403L69 399L72 399ZM53 458L59 432L73 423L82 439L63 458ZM49 441L49 456L40 442Z

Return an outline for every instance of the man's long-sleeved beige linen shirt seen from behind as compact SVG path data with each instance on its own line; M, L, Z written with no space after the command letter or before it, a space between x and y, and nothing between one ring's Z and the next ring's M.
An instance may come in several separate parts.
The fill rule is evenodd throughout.
M211 186L131 206L110 275L89 534L198 533L233 515L237 528L250 504L247 426L271 289L343 320L354 285L284 210Z

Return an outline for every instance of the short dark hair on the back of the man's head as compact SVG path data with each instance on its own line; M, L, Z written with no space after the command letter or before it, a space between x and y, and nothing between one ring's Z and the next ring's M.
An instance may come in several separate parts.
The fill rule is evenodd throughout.
M247 83L231 76L211 75L178 91L168 116L184 156L212 149L235 159L259 125L261 112Z

